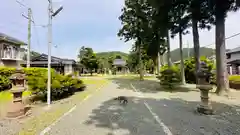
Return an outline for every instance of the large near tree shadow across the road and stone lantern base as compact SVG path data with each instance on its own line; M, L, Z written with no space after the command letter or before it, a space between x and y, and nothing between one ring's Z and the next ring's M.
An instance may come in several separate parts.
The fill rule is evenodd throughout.
M240 134L239 106L229 106L213 102L215 115L205 116L195 112L198 102L182 99L151 99L129 97L126 106L116 101L103 102L92 111L84 123L107 128L120 134L163 135L163 129L144 105L149 104L152 111L170 129L173 135L233 135ZM111 135L113 133L109 133Z

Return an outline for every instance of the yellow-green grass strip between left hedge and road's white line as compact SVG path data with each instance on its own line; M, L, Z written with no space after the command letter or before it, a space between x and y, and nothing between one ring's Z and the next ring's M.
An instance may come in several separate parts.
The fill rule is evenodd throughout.
M96 91L99 88L108 83L107 80L91 80L82 79L84 84L87 85L87 89L83 92L76 92L73 96L69 97L67 100L70 102L65 102L63 104L52 105L52 109L43 112L42 114L35 116L25 122L21 131L17 135L36 135L41 132L44 128L52 124L59 117L61 117L65 112L71 109L75 104L81 102L86 96Z

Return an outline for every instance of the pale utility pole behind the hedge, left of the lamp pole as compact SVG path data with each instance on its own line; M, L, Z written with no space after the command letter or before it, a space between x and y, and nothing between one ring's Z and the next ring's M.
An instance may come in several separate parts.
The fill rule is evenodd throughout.
M28 50L27 50L27 68L30 67L30 46L31 46L31 24L32 24L32 20L31 20L31 16L32 16L32 10L31 8L28 8Z

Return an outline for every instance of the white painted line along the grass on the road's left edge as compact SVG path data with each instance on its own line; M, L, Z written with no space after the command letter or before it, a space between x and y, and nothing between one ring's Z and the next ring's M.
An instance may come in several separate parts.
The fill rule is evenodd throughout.
M99 87L95 92L99 91L103 86ZM87 95L82 102L80 102L80 104L82 104L84 101L86 101L87 99L89 99L92 96L92 94ZM53 122L52 124L50 124L48 127L46 127L44 130L42 130L40 132L39 135L45 135L47 132L49 132L51 130L51 128L56 125L57 122L59 122L60 120L62 120L65 116L69 115L70 113L72 113L75 109L77 108L77 105L74 105L68 112L64 113L60 118L58 118L55 122Z

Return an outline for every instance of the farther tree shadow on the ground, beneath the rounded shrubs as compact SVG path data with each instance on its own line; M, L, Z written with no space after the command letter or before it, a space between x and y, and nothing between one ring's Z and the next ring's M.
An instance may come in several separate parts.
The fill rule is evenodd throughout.
M186 87L186 86L176 86L173 91L170 91L168 89L165 89L160 86L159 81L157 80L144 80L144 81L139 81L136 79L132 78L108 78L111 80L113 83L118 85L119 89L129 89L131 90L132 87L130 84L132 84L137 90L144 92L144 93L156 93L160 91L165 91L165 92L189 92L189 91L197 91L193 87Z

